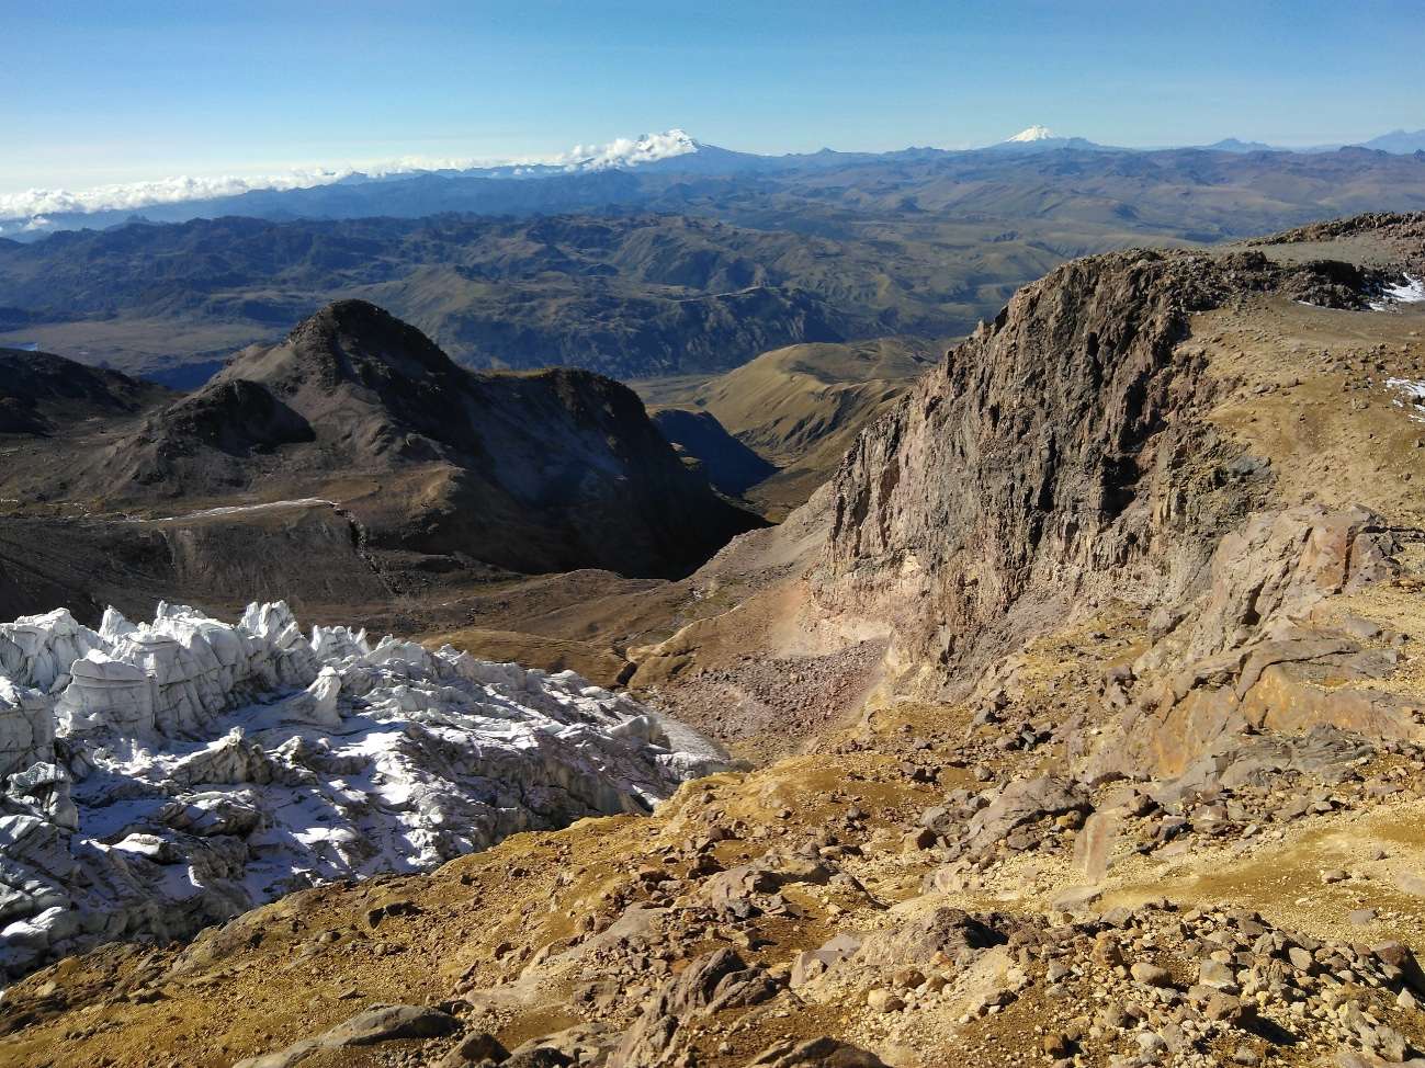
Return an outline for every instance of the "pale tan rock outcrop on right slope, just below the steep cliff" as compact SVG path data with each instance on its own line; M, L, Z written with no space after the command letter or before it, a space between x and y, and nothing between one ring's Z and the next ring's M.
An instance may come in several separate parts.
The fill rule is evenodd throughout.
M1204 753L1226 763L1244 729L1414 735L1425 705L1354 685L1391 675L1399 654L1314 614L1330 597L1389 578L1396 550L1385 520L1365 508L1298 506L1227 534L1206 591L1160 607L1151 648L1107 681L1120 729L1092 748L1090 778L1180 775Z

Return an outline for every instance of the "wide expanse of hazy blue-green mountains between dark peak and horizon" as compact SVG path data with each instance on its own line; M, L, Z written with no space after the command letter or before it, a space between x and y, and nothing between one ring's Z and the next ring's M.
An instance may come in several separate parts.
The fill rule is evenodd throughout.
M730 174L660 169L687 158L479 179L520 197L564 182L583 191L539 205L482 208L440 194L399 212L519 209L522 219L224 218L0 244L0 328L10 328L0 343L150 372L274 340L276 325L359 296L476 366L715 372L795 342L965 333L1076 255L1425 208L1425 158L1359 148L915 150ZM457 192L462 181L389 187L406 197ZM586 214L527 215L574 208Z

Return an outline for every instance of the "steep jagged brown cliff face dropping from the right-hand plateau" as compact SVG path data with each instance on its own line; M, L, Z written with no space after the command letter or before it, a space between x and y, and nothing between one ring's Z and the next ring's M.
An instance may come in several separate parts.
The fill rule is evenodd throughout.
M1180 592L1251 497L1174 347L1234 273L1264 281L1126 252L1020 290L848 453L818 601L884 618L891 666L929 681L1070 602Z

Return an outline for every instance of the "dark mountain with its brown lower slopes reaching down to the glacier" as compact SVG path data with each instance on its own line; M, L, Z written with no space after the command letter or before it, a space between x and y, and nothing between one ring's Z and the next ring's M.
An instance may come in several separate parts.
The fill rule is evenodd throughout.
M500 570L673 577L761 525L683 464L626 386L472 373L363 302L178 399L94 379L123 402L103 394L113 414L7 441L0 590L14 614L254 590L319 612Z

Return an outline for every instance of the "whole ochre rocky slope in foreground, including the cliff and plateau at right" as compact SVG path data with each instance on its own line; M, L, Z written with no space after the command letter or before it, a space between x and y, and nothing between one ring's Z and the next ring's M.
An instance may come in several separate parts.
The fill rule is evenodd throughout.
M0 1064L1418 1065L1422 226L1027 286L643 591L755 766L57 961Z

